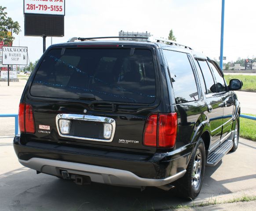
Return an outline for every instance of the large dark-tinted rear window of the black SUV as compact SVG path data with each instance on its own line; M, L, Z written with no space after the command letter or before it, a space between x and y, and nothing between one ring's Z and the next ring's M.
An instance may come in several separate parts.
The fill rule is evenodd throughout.
M30 89L37 97L153 103L153 57L147 49L52 49L44 57Z

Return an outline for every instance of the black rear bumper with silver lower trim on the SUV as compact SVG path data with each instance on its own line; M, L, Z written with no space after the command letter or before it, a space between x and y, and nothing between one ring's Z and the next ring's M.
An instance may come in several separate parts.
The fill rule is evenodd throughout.
M85 149L26 142L15 136L14 149L19 162L49 175L61 176L61 170L74 175L90 176L92 182L123 186L163 186L182 177L194 144L169 153L151 155Z

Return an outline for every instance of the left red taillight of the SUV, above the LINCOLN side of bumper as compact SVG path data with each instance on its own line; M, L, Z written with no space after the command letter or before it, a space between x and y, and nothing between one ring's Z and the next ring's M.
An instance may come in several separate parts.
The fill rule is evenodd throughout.
M32 106L25 103L19 104L18 111L19 130L26 133L35 133L35 121Z

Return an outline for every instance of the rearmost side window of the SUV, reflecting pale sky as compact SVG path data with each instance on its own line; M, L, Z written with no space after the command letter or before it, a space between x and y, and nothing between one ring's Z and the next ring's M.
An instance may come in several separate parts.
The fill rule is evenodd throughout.
M176 103L198 100L193 69L186 53L163 50L168 62Z

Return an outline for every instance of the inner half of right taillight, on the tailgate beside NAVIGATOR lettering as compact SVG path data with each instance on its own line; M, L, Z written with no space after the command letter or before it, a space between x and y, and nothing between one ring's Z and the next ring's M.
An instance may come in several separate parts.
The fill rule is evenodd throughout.
M143 143L145 146L157 146L157 114L150 115L146 120Z

